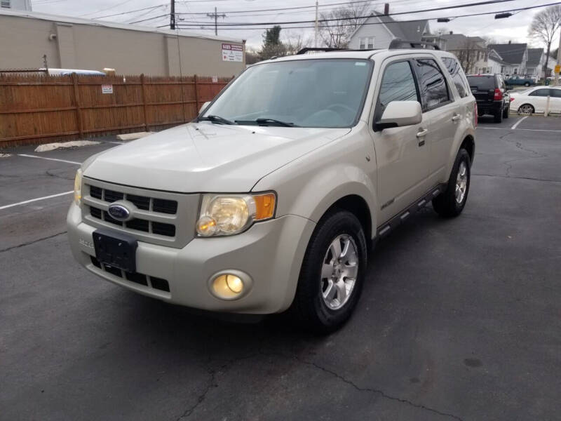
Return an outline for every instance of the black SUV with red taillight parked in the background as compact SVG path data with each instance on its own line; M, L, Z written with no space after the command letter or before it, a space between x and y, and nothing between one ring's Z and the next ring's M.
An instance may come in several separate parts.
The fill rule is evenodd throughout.
M478 116L492 114L496 123L508 119L511 95L502 74L469 74L469 87L478 102Z

